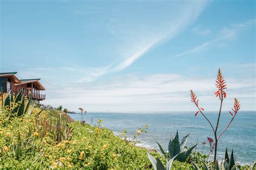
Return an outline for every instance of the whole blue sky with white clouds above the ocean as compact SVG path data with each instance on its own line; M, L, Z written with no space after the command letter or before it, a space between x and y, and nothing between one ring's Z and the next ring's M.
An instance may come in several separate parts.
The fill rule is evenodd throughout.
M0 1L0 72L71 111L255 110L255 1Z

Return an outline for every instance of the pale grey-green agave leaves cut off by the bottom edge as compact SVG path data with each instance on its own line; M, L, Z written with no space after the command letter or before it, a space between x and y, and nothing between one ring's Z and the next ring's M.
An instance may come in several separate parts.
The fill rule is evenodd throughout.
M172 162L176 158L174 156L171 160L167 161L166 167L164 166L163 162L159 158L155 159L149 151L147 151L147 156L149 157L149 160L151 161L151 164L155 170L171 170L172 169Z

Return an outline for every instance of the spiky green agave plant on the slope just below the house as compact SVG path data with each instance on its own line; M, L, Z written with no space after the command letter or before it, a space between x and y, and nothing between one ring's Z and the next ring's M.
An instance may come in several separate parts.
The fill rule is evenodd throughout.
M2 92L2 96L3 96L3 92ZM14 94L11 93L11 90L10 90L5 100L2 97L2 107L8 108L8 111L12 116L24 115L29 110L29 107L31 104L33 108L35 103L32 103L32 95L30 96L28 102L26 102L25 97L23 96L22 90L19 91L18 94L15 94L15 96Z

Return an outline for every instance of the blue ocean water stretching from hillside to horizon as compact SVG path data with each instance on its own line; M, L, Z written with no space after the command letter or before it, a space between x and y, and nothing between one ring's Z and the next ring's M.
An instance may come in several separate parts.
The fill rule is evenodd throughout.
M215 125L218 116L217 112L205 112L205 114ZM70 114L70 116L76 121L80 120L79 114ZM231 118L228 111L222 113L219 132L226 127ZM87 112L84 119L89 124L95 124L98 119L103 119L103 124L106 128L113 130L117 134L126 129L129 137L132 137L142 125L150 125L147 133L143 133L138 137L141 141L140 146L147 148L158 148L156 143L158 141L167 150L170 135L174 137L177 130L180 139L190 133L187 146L192 146L198 141L197 151L199 152L202 151L202 142L205 141L207 144L204 153L208 153L210 145L208 144L207 137L214 139L212 129L204 117L200 114L195 117L194 112L190 111L139 113ZM225 149L228 147L230 154L233 148L236 161L241 162L241 164L251 164L256 160L255 132L256 112L238 112L230 128L219 139L218 159L221 160L223 158Z

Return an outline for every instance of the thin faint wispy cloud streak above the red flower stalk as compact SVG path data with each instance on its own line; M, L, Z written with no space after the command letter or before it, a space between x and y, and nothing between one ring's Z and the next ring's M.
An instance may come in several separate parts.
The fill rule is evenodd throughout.
M180 57L183 55L200 52L201 50L205 49L209 45L213 45L217 42L218 42L218 44L226 46L227 43L224 43L225 40L231 40L231 39L236 38L239 31L245 29L246 27L255 25L255 23L256 23L256 20L252 19L252 20L248 20L247 22L244 22L244 23L231 24L231 27L224 27L223 29L221 29L219 31L219 33L217 34L217 37L215 37L214 39L208 40L208 41L204 42L203 44L200 44L196 47L188 49L185 52L178 53L178 54L174 55L174 57Z

